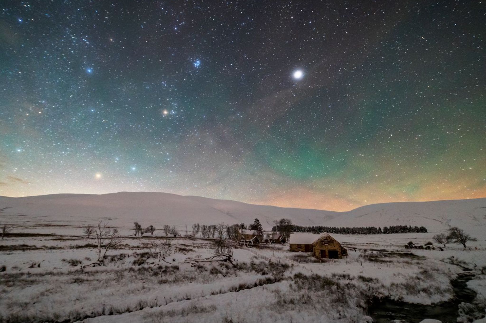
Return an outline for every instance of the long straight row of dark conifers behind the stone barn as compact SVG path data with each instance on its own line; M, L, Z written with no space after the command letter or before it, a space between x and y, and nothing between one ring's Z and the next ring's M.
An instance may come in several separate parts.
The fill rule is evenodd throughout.
M275 230L275 227L272 228ZM412 226L390 226L390 227L325 227L325 226L292 226L293 232L312 232L312 233L338 233L338 234L388 234L388 233L424 233L427 232L425 227Z

